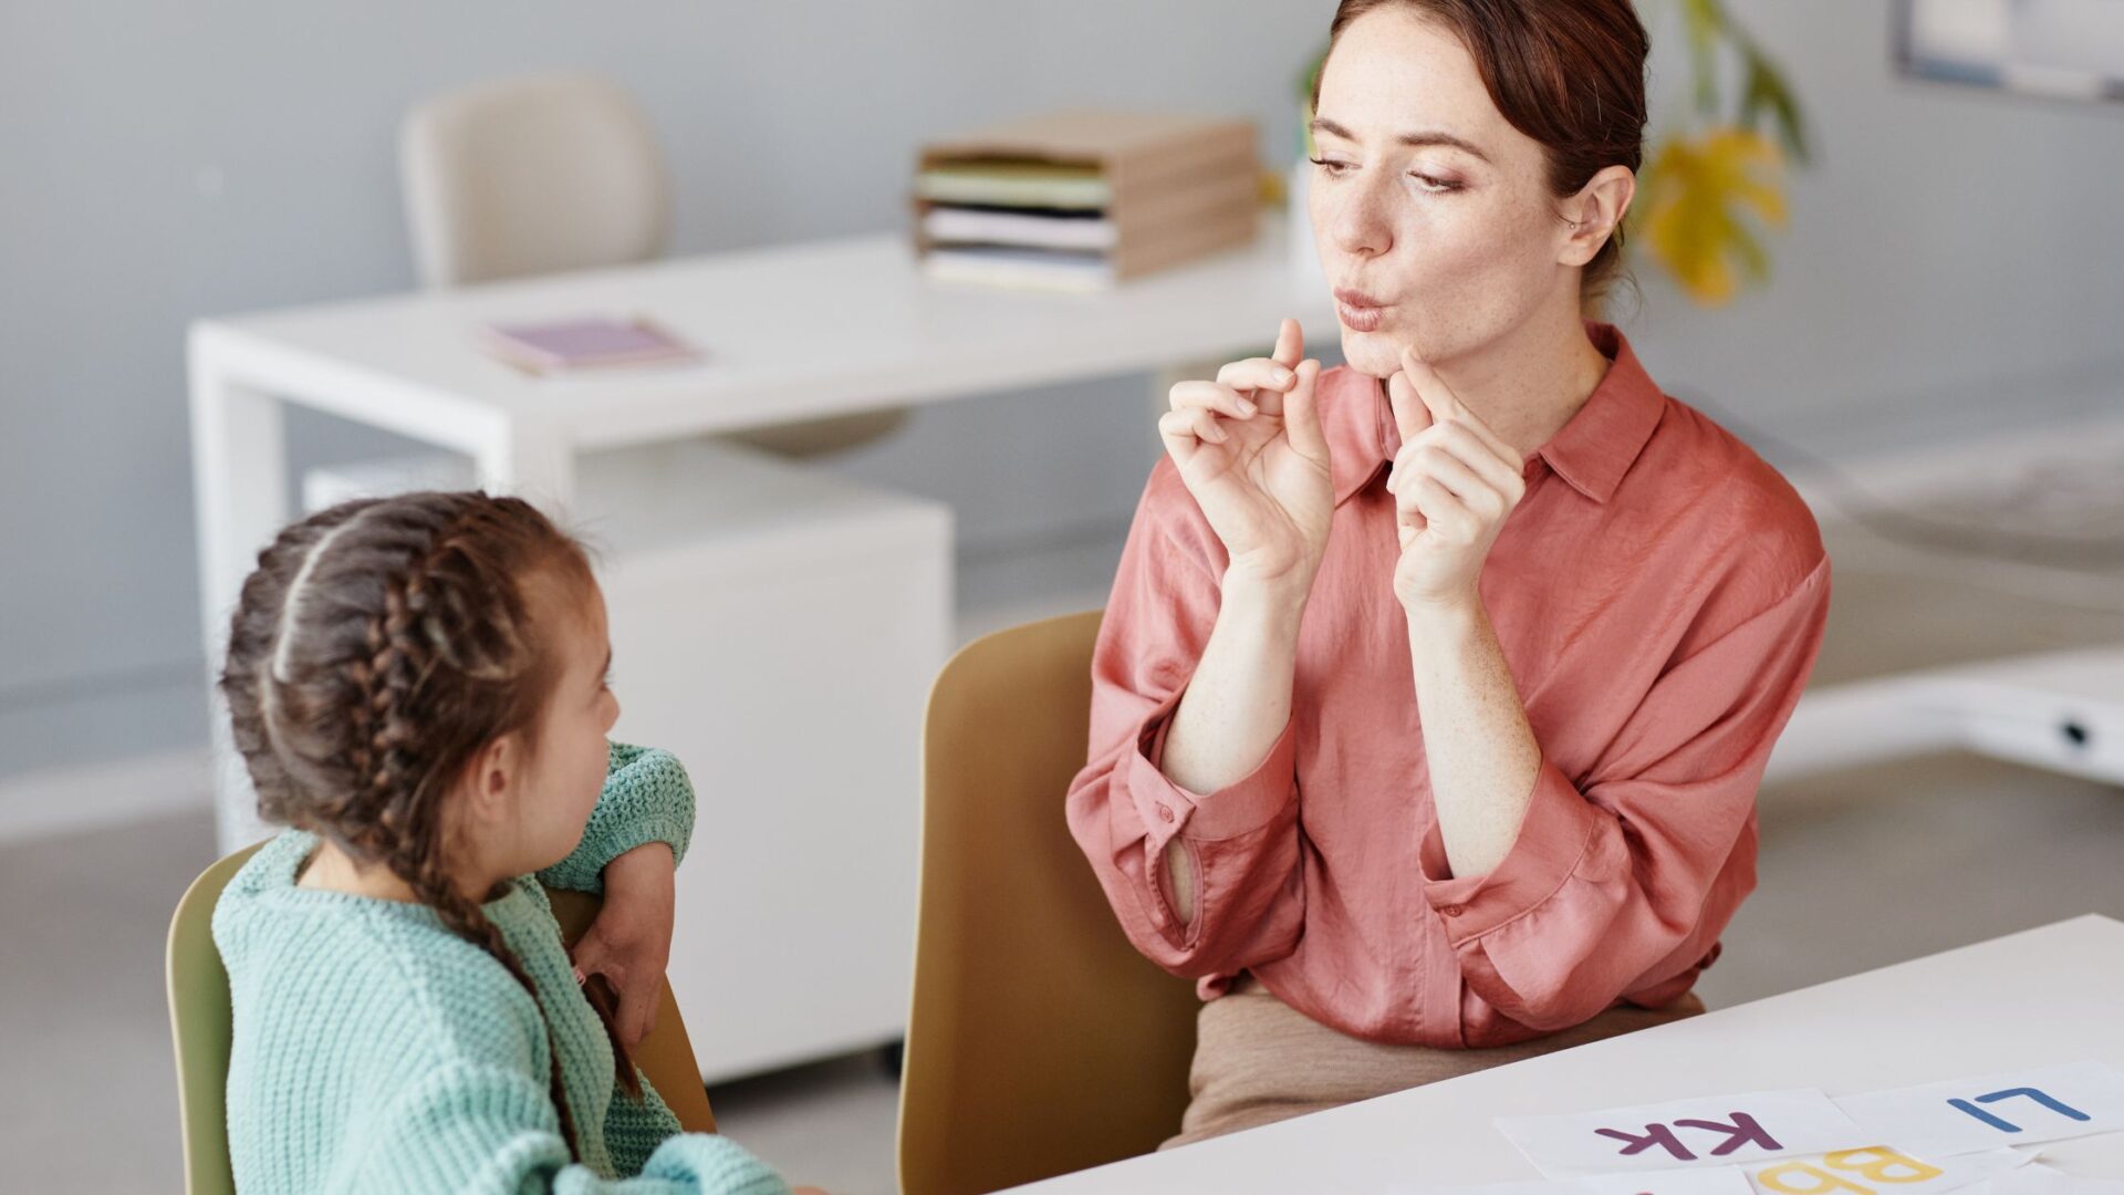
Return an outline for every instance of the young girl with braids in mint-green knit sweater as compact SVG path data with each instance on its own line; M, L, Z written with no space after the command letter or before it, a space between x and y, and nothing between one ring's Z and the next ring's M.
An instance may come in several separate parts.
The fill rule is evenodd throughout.
M601 925L661 891L620 976L654 991L692 789L605 742L610 663L588 559L514 498L348 502L259 555L221 689L289 829L215 908L238 1189L788 1191L680 1131L539 889L612 880Z

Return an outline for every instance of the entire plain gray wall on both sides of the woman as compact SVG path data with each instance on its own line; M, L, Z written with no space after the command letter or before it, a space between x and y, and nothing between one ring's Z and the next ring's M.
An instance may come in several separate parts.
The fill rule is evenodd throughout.
M1699 313L1646 281L1627 325L1655 374L1844 447L2116 402L2124 113L1897 83L1882 0L1737 6L1795 72L1822 164L1771 289ZM4 0L0 776L202 740L185 321L408 287L393 138L416 98L550 66L618 79L667 142L690 253L896 228L915 145L1011 111L1249 113L1283 162L1330 11ZM1143 393L930 410L839 468L952 500L975 553L1111 534L1151 451ZM382 442L291 434L297 464Z

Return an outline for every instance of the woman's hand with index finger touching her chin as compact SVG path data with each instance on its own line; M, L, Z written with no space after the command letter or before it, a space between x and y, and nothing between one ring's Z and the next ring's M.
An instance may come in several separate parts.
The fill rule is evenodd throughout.
M1393 595L1408 615L1474 608L1489 546L1527 493L1525 464L1408 349L1387 398L1402 430L1387 474L1402 536Z

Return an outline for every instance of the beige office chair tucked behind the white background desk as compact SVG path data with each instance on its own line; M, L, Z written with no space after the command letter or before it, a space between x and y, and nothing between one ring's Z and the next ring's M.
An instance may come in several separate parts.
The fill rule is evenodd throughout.
M646 262L671 225L656 130L627 91L590 74L503 79L429 100L406 117L399 170L427 287ZM905 419L867 410L731 440L816 457Z

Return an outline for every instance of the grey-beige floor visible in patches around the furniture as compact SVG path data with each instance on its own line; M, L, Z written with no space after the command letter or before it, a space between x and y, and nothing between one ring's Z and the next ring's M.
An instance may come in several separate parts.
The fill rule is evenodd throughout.
M1943 580L1835 527L1831 551L1816 683L2124 640L2124 610L2101 602L2001 593L1988 572ZM1701 982L1714 1008L2079 912L2124 916L2113 787L1941 755L1765 789L1761 827L1761 891ZM161 940L210 857L206 814L0 848L0 908L13 910L0 923L8 1189L178 1186ZM724 1131L792 1180L894 1189L894 1084L875 1057L718 1087L712 1099Z

